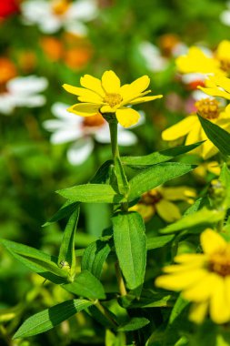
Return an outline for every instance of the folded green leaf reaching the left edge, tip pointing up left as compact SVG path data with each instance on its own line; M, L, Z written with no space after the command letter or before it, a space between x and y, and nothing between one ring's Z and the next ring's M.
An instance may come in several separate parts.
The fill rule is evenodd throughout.
M55 283L66 282L68 273L57 266L57 258L50 256L38 249L28 247L15 241L0 239L0 243L5 246L16 260L19 260L27 268L35 271L46 280Z

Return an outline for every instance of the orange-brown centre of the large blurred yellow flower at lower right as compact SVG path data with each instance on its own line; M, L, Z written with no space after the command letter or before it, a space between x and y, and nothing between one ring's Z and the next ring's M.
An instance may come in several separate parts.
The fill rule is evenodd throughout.
M229 250L213 254L209 260L209 269L224 277L230 275Z

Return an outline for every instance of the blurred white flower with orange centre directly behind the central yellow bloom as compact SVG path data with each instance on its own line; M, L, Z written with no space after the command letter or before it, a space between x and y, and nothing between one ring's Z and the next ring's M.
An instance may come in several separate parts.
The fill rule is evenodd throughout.
M45 120L43 126L52 132L52 144L74 142L67 149L67 158L72 165L81 165L92 153L95 147L94 139L99 143L110 143L109 127L99 114L93 117L77 117L67 112L68 107L69 105L56 102L51 108L56 119ZM138 126L145 122L144 112L140 112L140 115ZM132 146L137 142L133 132L119 125L118 127L119 145Z

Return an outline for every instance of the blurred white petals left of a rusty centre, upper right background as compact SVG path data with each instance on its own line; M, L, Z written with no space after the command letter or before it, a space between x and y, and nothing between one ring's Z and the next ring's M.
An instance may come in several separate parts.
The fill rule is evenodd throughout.
M167 67L167 59L161 55L157 46L145 41L138 46L138 50L140 55L145 59L146 67L150 71L160 72Z

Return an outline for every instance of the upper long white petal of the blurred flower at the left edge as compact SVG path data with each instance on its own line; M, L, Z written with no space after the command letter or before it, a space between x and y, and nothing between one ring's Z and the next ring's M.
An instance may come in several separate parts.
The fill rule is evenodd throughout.
M17 76L6 85L11 94L28 96L45 90L47 86L48 81L43 76Z

